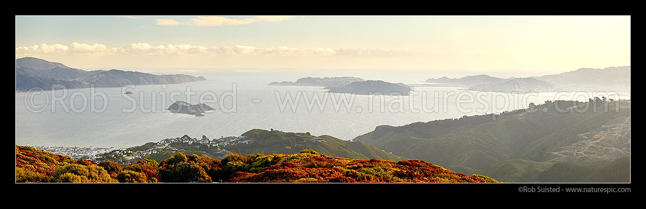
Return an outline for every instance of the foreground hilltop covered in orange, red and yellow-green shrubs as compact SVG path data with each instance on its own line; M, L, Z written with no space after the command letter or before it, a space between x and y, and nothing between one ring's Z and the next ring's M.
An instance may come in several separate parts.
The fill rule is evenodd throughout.
M423 160L356 160L311 149L294 154L232 154L222 160L176 153L160 163L140 160L122 166L16 146L16 162L16 182L497 182Z

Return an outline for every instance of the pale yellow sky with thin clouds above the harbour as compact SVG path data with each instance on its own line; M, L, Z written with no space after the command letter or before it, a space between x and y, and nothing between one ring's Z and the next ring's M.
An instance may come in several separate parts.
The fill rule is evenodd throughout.
M541 76L630 65L630 16L16 16L25 56L84 70Z

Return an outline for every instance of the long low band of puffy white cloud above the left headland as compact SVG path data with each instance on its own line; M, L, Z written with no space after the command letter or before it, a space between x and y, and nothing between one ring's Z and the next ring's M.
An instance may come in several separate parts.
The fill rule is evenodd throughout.
M47 45L18 45L16 55L32 54L96 54L96 55L238 55L238 56L412 56L419 54L402 50L381 50L381 49L331 49L315 47L313 49L300 49L295 47L253 47L235 45L234 47L205 47L200 45L151 45L149 43L130 43L122 47L109 48L100 43L89 45L87 43L72 43L72 45L54 44Z

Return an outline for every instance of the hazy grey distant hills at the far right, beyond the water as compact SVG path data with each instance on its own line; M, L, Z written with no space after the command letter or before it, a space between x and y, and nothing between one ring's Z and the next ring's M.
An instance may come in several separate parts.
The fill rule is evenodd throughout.
M630 66L607 67L605 69L578 69L545 76L528 78L496 78L488 75L465 76L463 78L429 78L426 85L466 87L471 91L498 92L630 92Z

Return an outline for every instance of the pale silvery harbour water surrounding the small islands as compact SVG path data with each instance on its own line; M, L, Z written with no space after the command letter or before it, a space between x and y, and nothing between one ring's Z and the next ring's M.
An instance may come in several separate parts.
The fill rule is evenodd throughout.
M251 74L250 74L251 75ZM275 76L275 75L274 75ZM351 140L354 137L373 131L376 126L390 125L402 126L413 122L428 122L445 118L459 118L463 115L483 115L482 111L475 109L484 109L483 104L479 102L461 103L462 109L472 109L472 111L461 111L456 104L456 96L460 93L467 92L475 95L477 92L458 90L459 87L415 87L413 92L415 96L385 96L382 109L379 111L379 96L373 98L373 111L369 111L368 95L355 95L351 107L346 107L342 102L339 111L335 110L335 97L337 101L340 96L346 96L351 99L351 94L328 94L328 99L323 107L317 104L312 106L312 111L308 111L305 101L311 100L313 95L318 95L320 99L326 95L326 89L322 87L286 87L286 86L269 86L266 83L272 81L282 81L273 78L271 74L255 74L246 78L239 76L222 76L211 78L206 82L179 83L171 85L139 85L129 88L134 94L125 96L121 88L96 88L92 89L68 89L67 96L63 99L64 105L67 106L68 112L65 112L63 105L56 102L55 111L52 111L52 93L61 95L63 91L48 91L48 97L45 94L34 93L16 93L16 144L19 145L45 145L45 146L95 146L95 147L130 147L139 146L146 142L157 142L163 138L182 137L189 135L194 138L200 138L206 135L209 138L219 138L220 136L238 136L251 129L277 129L288 132L309 132L312 135L330 135L344 140ZM339 75L343 76L343 75ZM237 77L237 78L236 78ZM366 80L371 78L364 78ZM286 78L287 81L295 81L292 78ZM408 80L397 79L388 80L388 82L421 82L426 78L410 78ZM235 85L235 103L233 96L225 96L221 100L220 96L227 93L233 93ZM185 91L190 87L191 91L196 94L191 96L190 103L196 104L200 95L205 92L212 92L218 97L220 102L205 102L215 109L213 112L205 113L205 116L197 117L193 115L175 114L169 111L163 111L174 102L169 98L172 92L179 93L174 98L176 100L186 99ZM107 109L100 113L92 112L90 102L87 107L80 113L75 113L72 109L82 109L83 96L75 96L74 100L70 97L72 94L84 94L87 100L92 97L91 91L105 93L107 96ZM300 92L300 93L299 93ZM437 98L439 103L436 104L435 93L439 93ZM443 93L453 92L452 97L443 98ZM290 105L280 110L280 101L276 98L278 93L280 98L286 98L289 93L291 98L296 98L301 94L300 101L297 104L296 111L293 112ZM427 107L432 108L439 105L437 112L426 113L411 110L421 109L422 93L425 94ZM25 105L32 98L34 104L47 104L47 107L40 113L34 113ZM154 111L142 111L140 96L143 96L144 109L151 109L151 95L155 94ZM162 98L161 94L165 94ZM539 93L536 96L528 96L525 101L506 101L502 97L493 101L493 95L502 95L505 93L488 93L483 96L483 100L489 104L495 104L495 109L489 107L486 113L499 113L504 110L513 110L526 108L530 102L543 104L545 100L555 100L557 93ZM507 94L508 98L514 98ZM524 94L517 95L517 98L523 98ZM572 94L570 94L572 95ZM579 101L587 101L592 95L578 94ZM583 95L583 96L581 96ZM573 96L573 95L572 95ZM561 96L559 100L571 99L567 96ZM594 95L597 96L597 95ZM136 109L131 113L125 113L124 109L130 109L132 102L129 98L136 100ZM101 109L104 104L101 96L96 96L96 109ZM206 96L211 99L211 96ZM413 100L411 103L410 100ZM630 99L630 96L621 96L621 99ZM48 103L45 101L49 100ZM165 101L165 102L164 102ZM399 103L401 102L401 103ZM74 107L72 107L72 103ZM224 105L224 110L220 109L220 104ZM232 109L235 104L235 112L225 113ZM389 105L390 104L390 105ZM403 104L403 108L399 108ZM505 107L505 104L507 107ZM389 109L390 106L390 109ZM323 109L322 112L320 109ZM401 113L403 109L403 113ZM446 109L446 111L445 111Z

